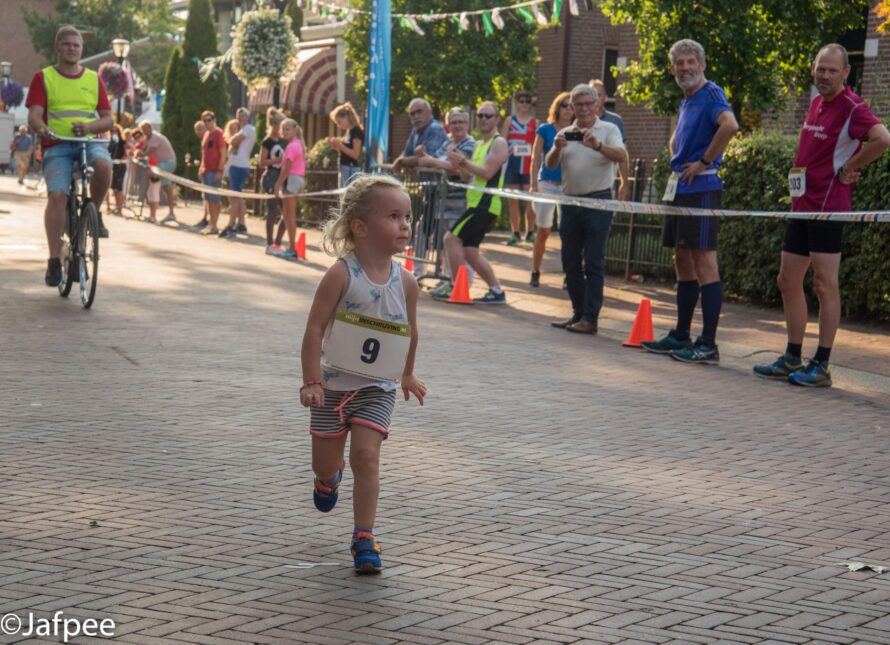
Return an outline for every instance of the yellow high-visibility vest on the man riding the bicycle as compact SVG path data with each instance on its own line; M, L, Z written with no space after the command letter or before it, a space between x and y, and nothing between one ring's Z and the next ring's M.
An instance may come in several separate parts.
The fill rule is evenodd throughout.
M53 66L43 68L46 88L46 124L61 137L73 137L73 124L99 118L99 75L84 68L80 78L63 76ZM95 137L88 134L87 137Z

